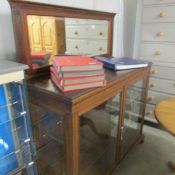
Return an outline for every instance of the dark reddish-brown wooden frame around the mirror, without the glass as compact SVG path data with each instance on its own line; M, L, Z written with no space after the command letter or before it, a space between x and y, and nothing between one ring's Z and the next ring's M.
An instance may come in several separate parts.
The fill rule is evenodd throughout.
M49 65L43 68L32 69L30 56L30 42L27 27L27 15L55 16L81 19L107 20L108 26L108 52L106 56L112 55L113 44L113 20L115 13L101 12L95 10L86 10L44 3L36 3L21 0L8 0L11 12L15 34L17 61L27 64L27 78L32 78L49 73ZM105 56L104 55L104 56Z

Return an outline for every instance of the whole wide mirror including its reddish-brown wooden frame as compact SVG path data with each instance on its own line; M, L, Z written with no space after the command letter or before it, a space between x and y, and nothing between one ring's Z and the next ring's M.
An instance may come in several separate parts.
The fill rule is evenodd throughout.
M54 55L112 55L114 13L8 0L17 61L27 77L49 73Z

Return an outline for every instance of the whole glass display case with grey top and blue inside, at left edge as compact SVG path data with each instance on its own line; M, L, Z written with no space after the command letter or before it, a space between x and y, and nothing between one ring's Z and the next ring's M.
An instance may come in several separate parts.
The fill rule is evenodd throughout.
M0 62L0 174L36 173L34 144L23 70L26 65Z

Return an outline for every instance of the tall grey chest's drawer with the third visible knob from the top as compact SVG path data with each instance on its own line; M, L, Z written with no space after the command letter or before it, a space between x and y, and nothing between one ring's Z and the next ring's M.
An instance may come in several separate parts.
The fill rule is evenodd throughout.
M152 62L174 62L175 63L175 45L142 43L140 57Z

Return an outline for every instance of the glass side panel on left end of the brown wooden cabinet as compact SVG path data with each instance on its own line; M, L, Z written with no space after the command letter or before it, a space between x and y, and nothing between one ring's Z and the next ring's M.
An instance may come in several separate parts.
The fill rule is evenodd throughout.
M64 160L64 120L55 113L31 105L38 174L62 175Z

